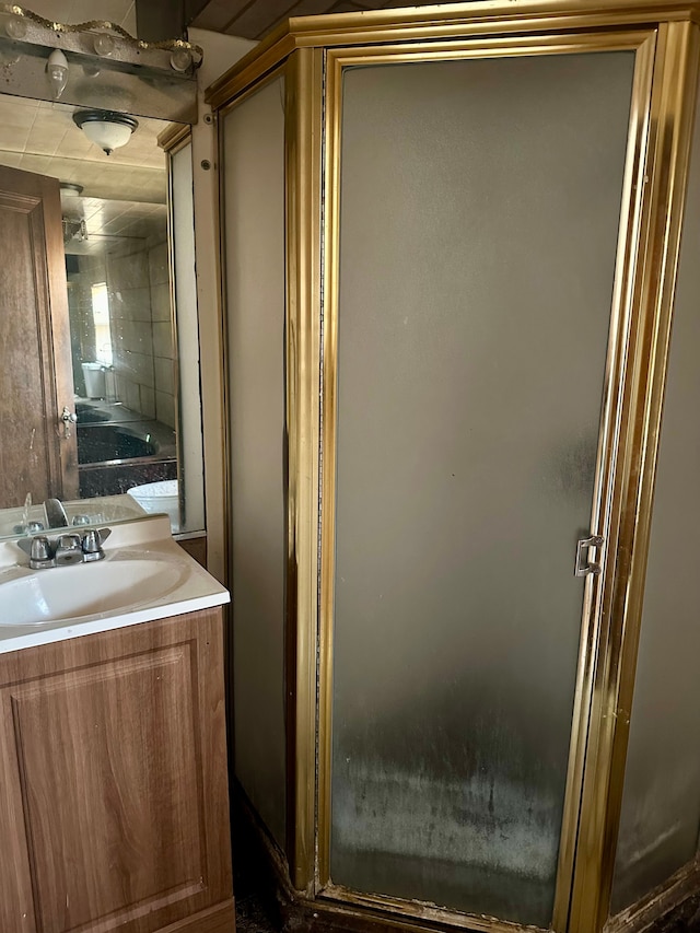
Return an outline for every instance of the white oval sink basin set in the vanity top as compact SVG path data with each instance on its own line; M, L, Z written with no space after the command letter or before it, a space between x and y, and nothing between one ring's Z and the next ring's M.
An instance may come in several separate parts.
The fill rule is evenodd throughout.
M133 610L176 590L187 575L182 561L133 555L73 567L0 574L0 626L40 626Z

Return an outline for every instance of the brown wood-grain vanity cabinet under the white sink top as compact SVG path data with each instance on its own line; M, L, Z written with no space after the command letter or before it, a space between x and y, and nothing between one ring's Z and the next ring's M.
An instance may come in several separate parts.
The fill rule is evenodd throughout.
M234 930L221 609L0 655L1 933Z

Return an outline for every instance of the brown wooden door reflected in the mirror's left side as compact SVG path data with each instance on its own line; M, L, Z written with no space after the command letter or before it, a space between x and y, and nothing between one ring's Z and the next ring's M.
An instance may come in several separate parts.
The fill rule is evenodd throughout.
M0 508L78 497L60 187L0 167Z

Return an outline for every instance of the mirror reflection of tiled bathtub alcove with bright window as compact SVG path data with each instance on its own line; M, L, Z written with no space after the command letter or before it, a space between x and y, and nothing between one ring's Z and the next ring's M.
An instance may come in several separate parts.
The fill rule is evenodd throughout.
M66 273L79 490L90 499L174 480L177 463L165 205L83 202L88 238L66 237Z

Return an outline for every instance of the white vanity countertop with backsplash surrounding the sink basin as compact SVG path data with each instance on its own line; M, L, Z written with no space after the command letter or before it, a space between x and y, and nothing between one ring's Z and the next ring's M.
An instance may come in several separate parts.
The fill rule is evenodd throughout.
M49 537L60 530L49 533ZM70 534L80 529L62 530ZM15 540L0 541L0 653L194 613L230 600L229 592L173 539L167 516L115 525L103 549L104 560L94 563L30 570L28 558ZM91 578L91 571L97 568L101 569ZM132 574L144 568L145 575L149 570L158 573L151 574L141 591ZM82 597L84 603L86 588L91 583L94 588L102 576L109 579L112 587L105 596L105 607L97 596L73 613L71 600L80 603ZM33 606L37 605L35 593L38 604L43 604L40 591L45 584L59 595L60 608L51 611L44 606L45 620L14 623L22 616L21 600L28 592L33 594ZM3 585L8 587L4 599Z

